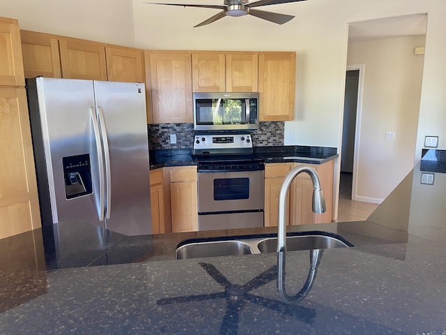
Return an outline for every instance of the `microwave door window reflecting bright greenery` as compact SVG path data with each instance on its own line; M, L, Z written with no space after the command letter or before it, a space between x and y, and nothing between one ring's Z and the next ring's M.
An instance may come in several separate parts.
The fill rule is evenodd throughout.
M197 124L245 124L245 99L197 99Z

